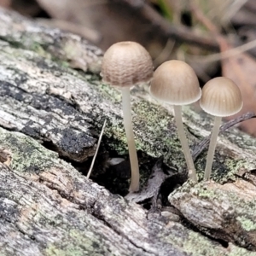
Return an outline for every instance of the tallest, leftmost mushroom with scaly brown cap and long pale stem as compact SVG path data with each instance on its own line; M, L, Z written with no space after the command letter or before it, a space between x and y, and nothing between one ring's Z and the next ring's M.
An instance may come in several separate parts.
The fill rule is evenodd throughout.
M131 124L130 87L150 81L153 76L153 62L148 51L135 42L113 44L102 60L102 79L122 91L125 134L131 162L131 184L129 191L139 189L139 168L134 134Z

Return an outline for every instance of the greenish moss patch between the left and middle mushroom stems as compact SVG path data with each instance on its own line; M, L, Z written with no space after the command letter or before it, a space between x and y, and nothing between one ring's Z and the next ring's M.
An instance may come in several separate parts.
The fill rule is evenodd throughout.
M164 156L168 166L184 166L183 150L172 114L146 101L135 102L132 107L135 131L141 138L139 149L153 157Z

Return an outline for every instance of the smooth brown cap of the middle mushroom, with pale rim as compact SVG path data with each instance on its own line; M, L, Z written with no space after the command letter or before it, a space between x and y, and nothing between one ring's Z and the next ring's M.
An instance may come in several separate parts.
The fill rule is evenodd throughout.
M166 61L158 67L150 86L150 94L172 105L187 105L201 97L195 71L183 61Z

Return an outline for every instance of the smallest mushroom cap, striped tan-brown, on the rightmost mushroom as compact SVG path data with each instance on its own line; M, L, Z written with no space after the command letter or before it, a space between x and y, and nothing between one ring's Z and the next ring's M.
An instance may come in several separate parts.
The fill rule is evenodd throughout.
M241 91L231 79L211 79L202 89L200 106L205 112L215 116L233 115L242 108Z

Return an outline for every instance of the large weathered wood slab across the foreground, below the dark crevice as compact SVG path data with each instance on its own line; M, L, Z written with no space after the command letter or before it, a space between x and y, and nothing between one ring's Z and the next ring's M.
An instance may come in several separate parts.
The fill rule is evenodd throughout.
M1 128L0 144L1 255L253 255L148 215L30 137Z

